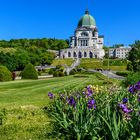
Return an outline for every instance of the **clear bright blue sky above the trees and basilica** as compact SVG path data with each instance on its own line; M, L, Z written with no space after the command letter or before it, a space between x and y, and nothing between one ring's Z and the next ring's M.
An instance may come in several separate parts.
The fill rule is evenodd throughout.
M69 39L84 14L87 0L0 0L0 40ZM88 0L105 44L132 44L140 39L140 0Z

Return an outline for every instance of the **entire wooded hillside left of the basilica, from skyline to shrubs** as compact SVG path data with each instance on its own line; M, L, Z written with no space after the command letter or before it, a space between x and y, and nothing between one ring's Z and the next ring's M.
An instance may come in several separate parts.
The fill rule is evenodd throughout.
M68 47L68 41L58 39L16 39L0 41L0 65L10 71L23 70L28 63L50 65L56 54L50 50Z

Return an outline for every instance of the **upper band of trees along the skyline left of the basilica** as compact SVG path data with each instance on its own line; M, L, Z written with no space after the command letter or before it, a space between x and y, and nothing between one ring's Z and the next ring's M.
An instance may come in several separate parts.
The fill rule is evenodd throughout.
M68 40L59 40L59 39L11 39L10 41L1 40L0 47L4 48L29 48L31 46L36 46L38 48L51 49L51 50L60 50L68 47Z

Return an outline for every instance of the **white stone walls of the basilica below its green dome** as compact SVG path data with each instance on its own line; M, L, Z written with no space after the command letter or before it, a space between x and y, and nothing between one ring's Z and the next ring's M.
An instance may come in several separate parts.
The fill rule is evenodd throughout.
M94 26L80 27L75 30L75 35L71 37L70 48L61 50L61 58L103 58L104 38L98 36L97 28ZM76 54L74 56L73 54Z

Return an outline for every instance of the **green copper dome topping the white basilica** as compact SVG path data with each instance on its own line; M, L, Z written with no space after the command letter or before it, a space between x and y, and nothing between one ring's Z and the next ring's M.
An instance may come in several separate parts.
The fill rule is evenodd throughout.
M90 27L95 25L96 25L95 19L91 15L89 15L88 11L85 12L85 15L82 16L78 22L78 27L83 27L83 26Z

